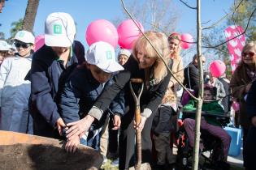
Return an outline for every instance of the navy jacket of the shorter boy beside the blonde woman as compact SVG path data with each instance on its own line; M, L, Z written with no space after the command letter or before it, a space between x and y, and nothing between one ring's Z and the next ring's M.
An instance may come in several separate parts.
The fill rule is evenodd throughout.
M63 121L67 124L79 121L85 117L89 109L93 107L95 100L102 93L104 87L111 85L110 79L105 85L98 83L93 78L91 71L85 66L77 67L67 79L59 100L59 113ZM111 112L124 114L124 98L118 96L111 104ZM102 121L101 121L102 120ZM100 125L104 123L104 117L100 120Z

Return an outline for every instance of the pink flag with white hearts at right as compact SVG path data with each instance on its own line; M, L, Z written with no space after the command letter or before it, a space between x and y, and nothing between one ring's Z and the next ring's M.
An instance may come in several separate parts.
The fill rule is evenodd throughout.
M238 36L242 32L244 32L244 29L241 26L232 25L225 29L226 40L229 40L227 44L232 73L236 70L237 63L241 60L241 51L245 46L245 35ZM232 39L235 36L237 37Z

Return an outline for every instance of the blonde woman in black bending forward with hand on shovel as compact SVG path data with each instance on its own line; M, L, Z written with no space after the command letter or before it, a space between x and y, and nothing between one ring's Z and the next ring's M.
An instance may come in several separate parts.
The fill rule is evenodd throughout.
M164 60L168 61L168 41L167 36L160 32L145 32L155 49L158 50ZM132 49L132 56L124 65L124 71L121 71L114 78L115 83L106 88L99 96L98 100L89 111L89 114L71 124L67 130L67 138L73 135L83 134L89 129L94 120L99 120L102 113L106 111L115 96L124 89L125 113L122 117L121 130L119 135L119 169L128 169L134 166L134 111L136 105L128 87L131 78L140 78L144 80L145 88L141 95L141 122L135 127L141 131L142 163L151 163L151 138L150 130L154 112L163 99L163 95L170 81L170 74L166 66L150 43L141 36L135 42ZM137 89L136 89L137 90Z

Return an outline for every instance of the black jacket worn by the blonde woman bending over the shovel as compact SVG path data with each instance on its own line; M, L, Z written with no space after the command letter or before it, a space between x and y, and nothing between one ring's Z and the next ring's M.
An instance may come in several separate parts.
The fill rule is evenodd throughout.
M124 101L125 101L125 113L135 110L135 104L129 88L129 80L131 78L139 78L145 80L145 70L140 70L138 62L134 57L129 57L128 62L124 65L124 70L120 71L119 74L116 74L113 78L114 82L111 86L106 87L102 92L98 100L96 100L94 106L101 108L102 111L106 111L111 101L119 93L121 89L124 89ZM151 83L149 86L144 87L141 95L141 112L144 108L150 108L152 113L156 111L158 105L161 104L163 95L167 89L167 85L170 81L171 74L162 80L162 82L154 85ZM144 81L145 82L145 81ZM140 85L134 85L134 91L138 91Z

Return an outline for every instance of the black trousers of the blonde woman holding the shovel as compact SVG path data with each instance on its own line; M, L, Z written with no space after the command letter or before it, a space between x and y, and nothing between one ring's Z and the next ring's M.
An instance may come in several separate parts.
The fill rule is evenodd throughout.
M122 117L121 130L119 135L119 169L128 169L136 163L136 142L135 130L133 128L134 112L129 112ZM141 155L142 164L152 163L152 142L150 138L150 130L152 126L154 113L145 121L143 130L141 131Z

